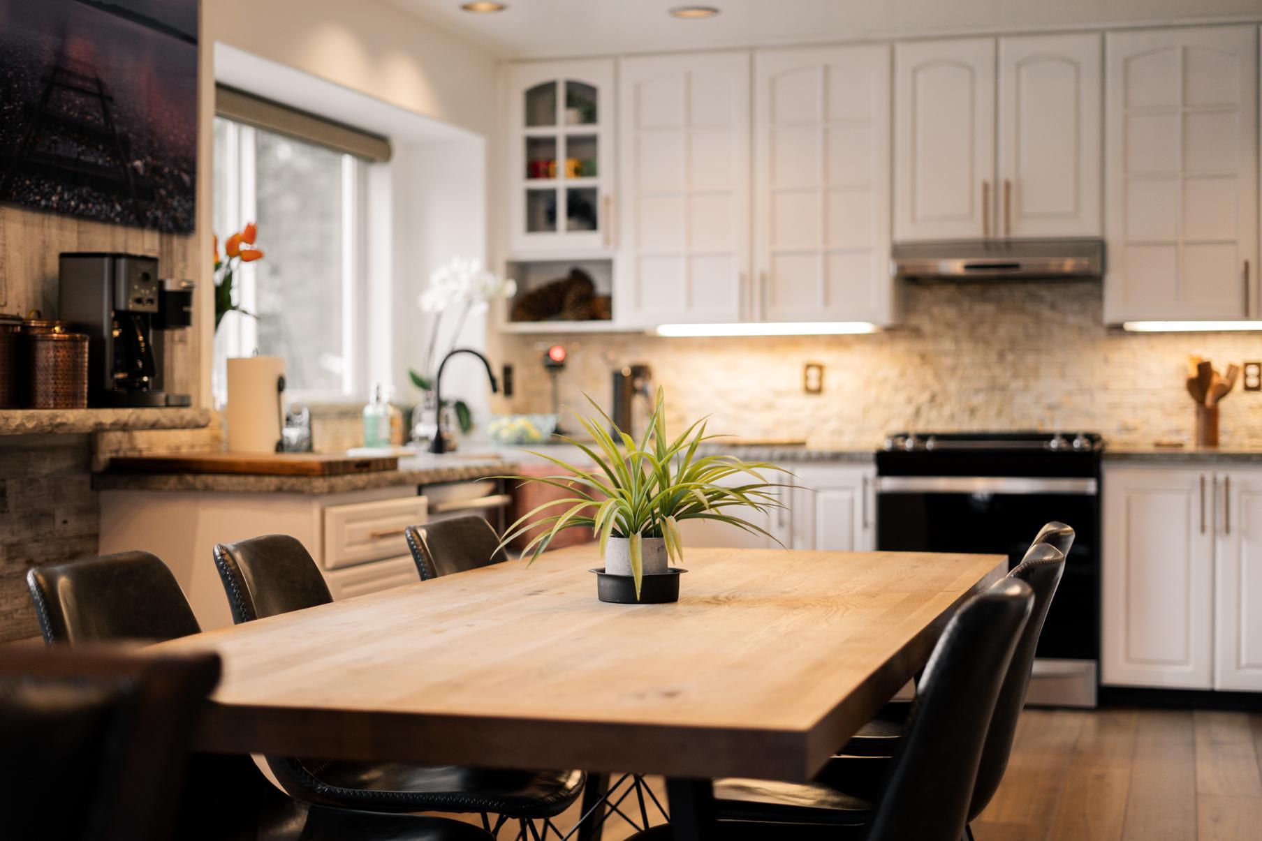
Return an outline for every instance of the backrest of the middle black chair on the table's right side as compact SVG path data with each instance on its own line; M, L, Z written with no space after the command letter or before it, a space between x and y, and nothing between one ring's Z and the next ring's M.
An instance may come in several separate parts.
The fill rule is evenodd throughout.
M1065 526L1065 528L1069 527ZM1071 543L1073 538L1074 531L1069 528L1068 542ZM1008 577L1005 579L1018 579L1030 585L1030 589L1034 590L1034 610L1017 639L1012 663L1008 666L1007 677L1003 678L1003 687L994 704L991 729L986 735L986 746L982 749L982 762L977 768L973 803L968 808L969 822L977 820L977 816L986 809L1003 780L1003 772L1007 770L1008 758L1012 755L1012 739L1017 733L1017 719L1021 717L1021 710L1025 707L1025 693L1030 687L1034 653L1039 647L1039 635L1042 633L1042 620L1047 618L1047 608L1051 606L1051 599L1056 595L1056 586L1060 584L1060 576L1064 571L1065 556L1060 550L1049 543L1035 543L1021 559L1021 564L1013 567L1008 572Z

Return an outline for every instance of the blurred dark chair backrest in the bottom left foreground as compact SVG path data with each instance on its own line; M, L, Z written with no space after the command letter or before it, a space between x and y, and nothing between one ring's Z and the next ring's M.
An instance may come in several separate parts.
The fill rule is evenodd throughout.
M0 811L13 838L170 838L217 654L0 649Z

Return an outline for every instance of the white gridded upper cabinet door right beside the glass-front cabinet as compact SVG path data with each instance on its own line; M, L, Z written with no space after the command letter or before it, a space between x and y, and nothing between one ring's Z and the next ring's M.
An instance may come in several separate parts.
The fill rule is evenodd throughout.
M750 54L627 58L618 322L737 322L748 313Z

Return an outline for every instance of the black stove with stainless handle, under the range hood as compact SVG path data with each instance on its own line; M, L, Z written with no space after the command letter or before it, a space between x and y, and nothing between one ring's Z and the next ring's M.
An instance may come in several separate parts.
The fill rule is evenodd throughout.
M1007 555L1012 567L1044 523L1073 526L1031 702L1094 706L1103 449L1095 432L897 432L876 453L878 550Z

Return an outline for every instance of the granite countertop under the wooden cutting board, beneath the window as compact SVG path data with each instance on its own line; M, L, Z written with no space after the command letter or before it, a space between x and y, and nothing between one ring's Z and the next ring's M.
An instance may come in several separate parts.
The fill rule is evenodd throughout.
M213 473L95 473L96 490L189 490L216 493L346 493L371 488L468 482L515 473L517 464L493 455L415 455L398 470L331 477L226 475Z

